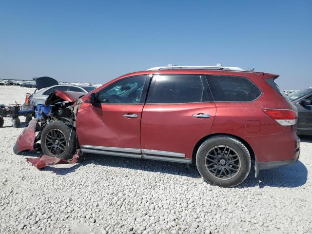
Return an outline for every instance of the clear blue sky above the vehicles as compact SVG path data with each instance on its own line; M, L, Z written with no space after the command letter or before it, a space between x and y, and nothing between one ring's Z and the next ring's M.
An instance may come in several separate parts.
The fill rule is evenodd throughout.
M105 83L169 63L310 87L312 1L0 0L0 78Z

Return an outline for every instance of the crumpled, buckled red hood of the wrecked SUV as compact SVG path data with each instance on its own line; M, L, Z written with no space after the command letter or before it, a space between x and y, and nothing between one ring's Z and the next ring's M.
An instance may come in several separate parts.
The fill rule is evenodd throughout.
M86 93L56 90L46 99L45 106L53 105L61 101L75 102L84 95L86 95Z

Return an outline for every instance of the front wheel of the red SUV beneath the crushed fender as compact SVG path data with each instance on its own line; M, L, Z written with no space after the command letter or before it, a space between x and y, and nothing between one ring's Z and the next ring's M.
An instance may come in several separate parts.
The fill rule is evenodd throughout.
M41 149L47 156L62 159L71 158L77 150L75 128L62 121L48 124L42 130Z

